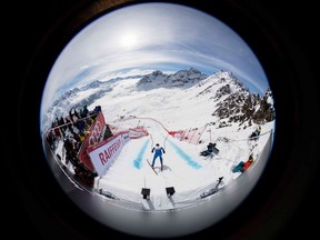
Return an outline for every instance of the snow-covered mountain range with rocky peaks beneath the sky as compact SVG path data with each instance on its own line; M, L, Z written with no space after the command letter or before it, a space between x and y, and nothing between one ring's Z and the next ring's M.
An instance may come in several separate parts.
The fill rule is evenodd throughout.
M270 89L260 97L250 92L230 71L208 76L190 68L174 73L156 70L142 77L94 80L73 88L42 116L42 129L50 128L57 117L66 117L69 110L84 104L89 109L102 106L109 121L116 121L119 116L148 116L168 126L174 122L176 127L171 128L178 128L178 122L187 128L183 118L188 112L194 124L214 124L217 128L238 124L239 129L270 122L276 116Z

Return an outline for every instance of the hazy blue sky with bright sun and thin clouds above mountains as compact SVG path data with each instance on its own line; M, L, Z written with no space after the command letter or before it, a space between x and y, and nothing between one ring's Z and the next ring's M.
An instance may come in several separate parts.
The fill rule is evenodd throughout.
M66 90L102 76L191 67L204 73L230 70L260 93L269 87L254 53L220 20L183 6L143 3L100 17L66 46L49 74L41 111Z

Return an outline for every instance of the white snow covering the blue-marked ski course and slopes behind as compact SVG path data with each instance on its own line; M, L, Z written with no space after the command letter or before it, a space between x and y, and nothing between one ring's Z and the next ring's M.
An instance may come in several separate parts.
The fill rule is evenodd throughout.
M228 76L224 77L228 81ZM113 83L112 91L88 106L89 110L101 106L106 122L117 130L140 127L149 133L126 143L106 174L96 178L94 189L111 192L123 201L142 203L148 209L141 198L141 189L148 188L151 190L150 200L154 209L166 210L173 208L166 194L167 187L174 188L172 198L176 203L189 201L193 204L201 193L216 187L220 177L223 179L219 188L237 180L242 173L233 173L232 168L240 161L246 162L251 153L254 161L247 171L254 171L254 163L274 128L274 121L261 126L261 136L257 141L248 139L257 124L243 128L232 123L218 128L219 121L223 119L212 116L216 106L212 96L226 84L218 81L220 78L210 76L191 88L151 90L138 90L138 79L123 80ZM237 91L237 86L231 86L231 90ZM92 93L93 90L79 93L78 99L86 98L89 91ZM199 94L203 91L211 93ZM227 97L222 96L221 100ZM168 134L168 130L183 130L187 138L173 138ZM200 156L210 141L217 143L219 153L212 157ZM147 159L152 162L151 149L156 143L166 149L162 171L160 160L156 160L154 170L158 174L147 162ZM64 163L62 142L54 153L62 156L61 162ZM72 171L71 163L67 167Z

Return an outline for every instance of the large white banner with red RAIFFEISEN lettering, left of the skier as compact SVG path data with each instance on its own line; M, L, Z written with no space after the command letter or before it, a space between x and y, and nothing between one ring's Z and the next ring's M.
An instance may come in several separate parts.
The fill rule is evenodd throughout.
M88 154L99 177L103 177L129 140L129 132L120 132L104 141L88 147Z

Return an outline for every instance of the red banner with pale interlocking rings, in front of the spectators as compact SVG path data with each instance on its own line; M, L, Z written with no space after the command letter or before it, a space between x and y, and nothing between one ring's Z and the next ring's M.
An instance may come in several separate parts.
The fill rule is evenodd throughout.
M91 128L89 129L89 133L86 137L81 149L79 151L79 160L90 170L94 171L90 157L87 153L87 149L89 146L97 144L102 140L102 133L106 128L106 121L102 112L99 112L96 117L94 122L92 123Z

